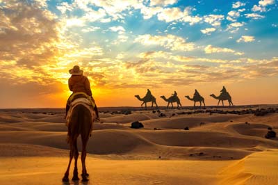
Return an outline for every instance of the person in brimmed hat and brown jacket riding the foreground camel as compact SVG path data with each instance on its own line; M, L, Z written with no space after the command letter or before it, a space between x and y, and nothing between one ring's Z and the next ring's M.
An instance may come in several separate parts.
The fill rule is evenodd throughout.
M69 70L70 74L72 76L68 80L68 85L70 88L70 91L72 91L72 95L70 95L69 99L67 99L67 106L66 106L66 113L70 109L70 99L74 95L74 93L85 93L90 97L90 100L92 100L92 103L95 104L95 99L92 97L92 90L90 88L90 81L87 77L83 76L83 70L80 70L80 67L78 65L74 65L74 67ZM99 111L97 110L97 104L95 104L94 111L97 115L97 120L99 120Z

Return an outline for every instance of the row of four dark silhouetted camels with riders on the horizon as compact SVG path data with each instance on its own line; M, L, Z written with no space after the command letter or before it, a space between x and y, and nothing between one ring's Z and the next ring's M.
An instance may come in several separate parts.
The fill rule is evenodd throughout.
M218 99L218 106L219 106L220 102L222 102L222 106L224 106L225 100L227 100L229 102L229 106L233 106L234 104L233 104L233 102L231 102L231 95L229 95L229 93L227 92L227 90L224 86L223 86L222 90L220 90L220 92L221 93L219 96L215 96L214 94L210 95L211 97ZM158 105L156 104L156 97L154 97L154 95L152 95L152 93L149 89L147 90L147 94L145 95L145 97L141 98L139 95L135 95L135 97L142 102L141 107L143 106L143 104L145 104L145 108L147 108L147 103L152 102L152 107L155 104L156 108L158 108ZM194 102L194 108L195 108L196 102L199 102L199 108L202 107L202 104L204 104L204 108L206 108L206 104L204 103L204 97L202 97L199 94L197 89L195 89L195 93L192 98L189 97L188 95L186 95L185 97L187 99L189 99L190 101ZM182 108L181 101L180 101L179 97L177 96L176 91L174 91L174 94L172 94L168 98L166 98L164 95L162 95L161 98L164 99L165 102L167 102L167 108L169 108L170 104L171 104L172 108L174 108L173 103L177 103L177 108Z

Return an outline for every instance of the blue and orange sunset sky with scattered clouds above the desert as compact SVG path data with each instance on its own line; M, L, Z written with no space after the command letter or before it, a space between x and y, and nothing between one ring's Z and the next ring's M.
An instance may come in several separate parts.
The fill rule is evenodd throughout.
M278 104L276 0L0 0L0 108L63 107L80 65L98 106L227 88Z

